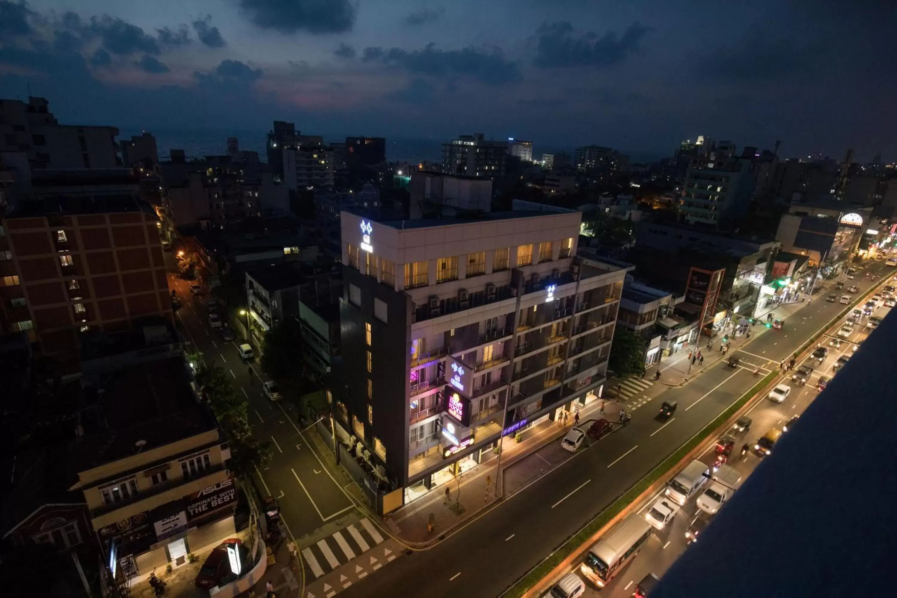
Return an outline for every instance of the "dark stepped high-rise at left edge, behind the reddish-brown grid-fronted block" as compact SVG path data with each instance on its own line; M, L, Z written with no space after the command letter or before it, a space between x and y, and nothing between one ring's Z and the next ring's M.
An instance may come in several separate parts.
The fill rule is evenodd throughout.
M114 126L60 125L43 98L0 100L0 152L24 152L31 169L120 166Z

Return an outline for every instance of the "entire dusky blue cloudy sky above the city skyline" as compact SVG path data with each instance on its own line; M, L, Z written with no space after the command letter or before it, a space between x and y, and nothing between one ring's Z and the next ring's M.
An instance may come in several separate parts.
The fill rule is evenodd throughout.
M0 97L67 124L897 159L876 0L0 0Z

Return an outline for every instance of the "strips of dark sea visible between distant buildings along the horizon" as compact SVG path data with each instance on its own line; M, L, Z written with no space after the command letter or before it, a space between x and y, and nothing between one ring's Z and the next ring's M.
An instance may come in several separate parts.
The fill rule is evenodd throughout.
M131 135L139 135L142 131L122 129L118 139L128 139ZM202 158L227 153L227 138L235 136L239 139L239 149L258 152L262 161L267 160L266 132L264 131L213 131L189 129L154 129L150 131L156 138L156 148L160 160L168 160L170 149L184 150L187 158ZM342 142L353 134L324 135L326 143ZM410 139L406 137L387 137L387 160L391 162L440 161L442 143L448 139L431 137L427 139ZM539 159L543 153L567 152L573 155L573 148L539 146L534 143L533 158ZM624 152L625 153L625 152ZM659 160L663 156L652 152L630 152L630 162Z

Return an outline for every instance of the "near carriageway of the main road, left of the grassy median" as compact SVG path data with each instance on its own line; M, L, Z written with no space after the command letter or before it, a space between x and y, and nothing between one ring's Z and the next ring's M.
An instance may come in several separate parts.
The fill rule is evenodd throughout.
M877 263L867 271L890 273L893 268ZM881 282L881 279L871 282L865 273L861 272L856 281L846 286L855 283L863 293ZM347 597L417 592L433 596L502 594L518 577L545 559L753 386L757 381L753 368L766 372L778 367L781 360L788 359L811 336L829 325L845 306L825 301L828 292L823 291L811 304L788 317L782 330L755 334L742 346L742 351L737 351L741 367L732 368L720 362L685 386L659 394L646 409L634 413L628 427L585 450L580 449L553 472L505 498L486 515L448 535L431 550L404 554L376 575L357 581L340 594ZM830 356L832 359L834 356ZM781 413L771 414L771 418L782 419L789 406L797 412L793 405L808 400L810 392L814 391L807 386L792 394L790 403L776 406ZM676 401L679 407L673 418L660 422L655 419L658 411L655 407L664 400ZM769 409L768 405L758 407L753 415L757 420L765 420ZM758 421L752 429L752 439L762 434L762 425Z

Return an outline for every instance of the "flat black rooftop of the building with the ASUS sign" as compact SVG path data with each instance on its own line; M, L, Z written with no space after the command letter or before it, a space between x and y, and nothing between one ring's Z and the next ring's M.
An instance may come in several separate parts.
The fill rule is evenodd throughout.
M180 356L151 361L87 386L77 418L83 436L69 452L72 472L216 429L212 412L196 402L186 367Z

